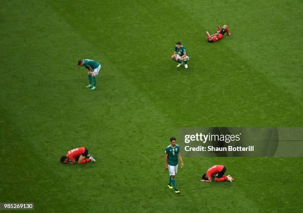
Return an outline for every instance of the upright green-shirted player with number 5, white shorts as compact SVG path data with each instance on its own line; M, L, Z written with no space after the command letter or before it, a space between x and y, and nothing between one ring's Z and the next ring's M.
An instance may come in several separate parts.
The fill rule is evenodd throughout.
M177 184L175 180L175 175L178 171L178 157L181 161L181 168L184 166L180 146L176 144L176 138L170 138L170 145L165 148L165 169L169 171L169 180L167 187L175 189L175 193L180 193L177 189ZM173 185L173 187L171 186Z

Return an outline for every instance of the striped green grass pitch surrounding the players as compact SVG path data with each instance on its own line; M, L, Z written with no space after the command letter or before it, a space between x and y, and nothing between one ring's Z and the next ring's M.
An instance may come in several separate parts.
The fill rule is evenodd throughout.
M303 126L302 0L3 0L0 202L34 212L295 212L303 158L184 158L179 127ZM230 37L206 42L228 24ZM186 46L187 70L170 60ZM79 59L101 62L91 91ZM97 162L63 165L86 146ZM224 164L234 183L200 182Z

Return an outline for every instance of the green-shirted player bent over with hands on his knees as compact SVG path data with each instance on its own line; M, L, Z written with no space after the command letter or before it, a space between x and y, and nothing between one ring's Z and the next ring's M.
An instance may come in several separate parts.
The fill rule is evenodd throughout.
M92 90L96 89L96 75L98 75L100 69L101 69L101 65L93 60L90 59L82 59L78 61L78 65L79 66L84 66L86 69L88 69L87 75L89 78L89 85L87 86L87 88L92 87ZM94 80L94 84L92 85L92 77Z

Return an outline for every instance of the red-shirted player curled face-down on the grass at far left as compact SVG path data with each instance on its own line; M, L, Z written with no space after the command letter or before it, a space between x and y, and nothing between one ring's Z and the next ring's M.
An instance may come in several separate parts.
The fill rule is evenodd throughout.
M66 156L62 156L60 161L61 163L71 163L76 164L76 160L78 164L88 163L90 161L95 162L93 155L89 155L86 147L74 148L67 152Z

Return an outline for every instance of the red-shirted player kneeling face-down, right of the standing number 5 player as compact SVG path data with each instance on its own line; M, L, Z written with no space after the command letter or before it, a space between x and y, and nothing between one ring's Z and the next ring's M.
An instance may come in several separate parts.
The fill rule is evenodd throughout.
M225 171L226 171L225 166L214 165L207 170L206 174L203 174L201 181L211 183L211 177L213 176L215 182L221 182L225 180L233 182L234 178L230 175L225 176L224 175Z

